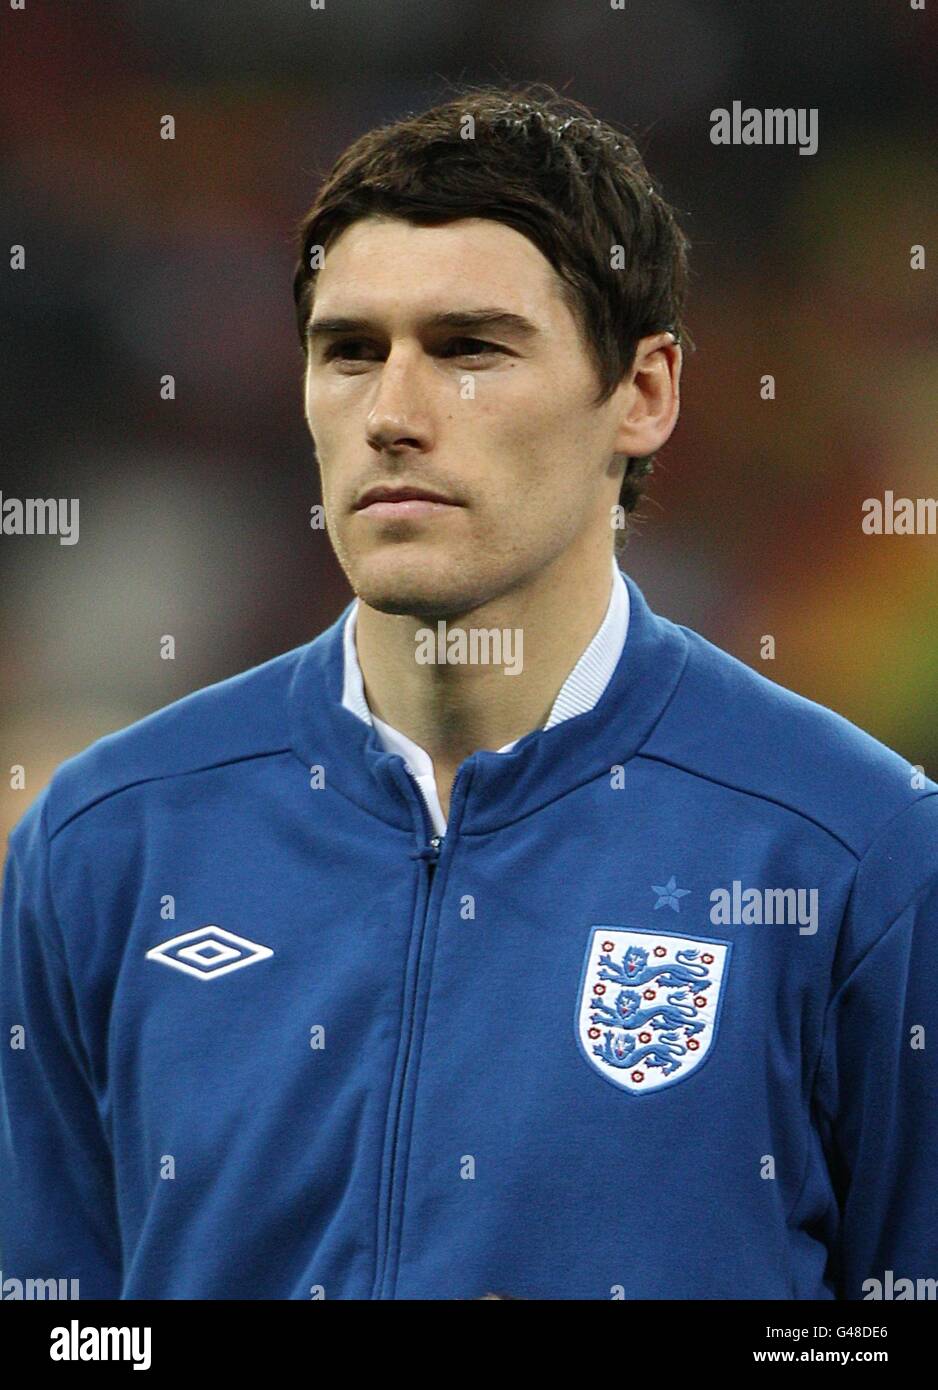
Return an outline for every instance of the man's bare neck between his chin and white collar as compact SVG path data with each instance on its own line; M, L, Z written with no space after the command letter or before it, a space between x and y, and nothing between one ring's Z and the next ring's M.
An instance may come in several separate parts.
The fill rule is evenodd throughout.
M446 621L450 644L464 632L468 653L474 631L502 634L502 664L421 664L417 652L428 645L434 653L452 651L439 641L438 624L360 602L356 646L368 708L424 748L442 771L478 749L496 751L541 728L603 621L610 585L609 550L564 552L524 585Z

